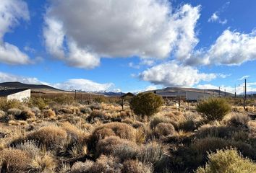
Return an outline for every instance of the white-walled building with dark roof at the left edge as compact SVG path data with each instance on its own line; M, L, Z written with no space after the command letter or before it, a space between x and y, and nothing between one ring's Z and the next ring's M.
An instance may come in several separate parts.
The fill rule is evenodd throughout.
M30 99L31 90L30 89L3 89L0 90L0 97L7 100L17 99L23 101L24 99Z

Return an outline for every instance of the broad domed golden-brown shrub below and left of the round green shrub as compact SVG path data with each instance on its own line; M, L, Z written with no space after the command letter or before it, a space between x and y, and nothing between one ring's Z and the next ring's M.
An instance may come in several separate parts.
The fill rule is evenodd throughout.
M93 145L106 136L119 136L120 138L135 141L135 133L135 128L126 123L106 123L95 128L90 140Z

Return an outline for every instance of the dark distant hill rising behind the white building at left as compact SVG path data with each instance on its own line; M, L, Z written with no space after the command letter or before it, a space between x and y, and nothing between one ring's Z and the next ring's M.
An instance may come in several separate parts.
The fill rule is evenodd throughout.
M48 86L48 85L44 85L44 84L23 84L21 82L18 81L12 81L12 82L3 82L0 83L0 89L11 89L11 88L15 88L15 89L21 89L21 88L30 88L30 89L50 89L50 90L56 90L56 91L62 91L61 89L56 89L52 86Z

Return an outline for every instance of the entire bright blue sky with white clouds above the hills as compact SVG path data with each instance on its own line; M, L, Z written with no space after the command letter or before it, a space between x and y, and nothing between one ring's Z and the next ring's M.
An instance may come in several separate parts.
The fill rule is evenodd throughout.
M256 1L0 0L0 82L256 92ZM235 87L236 86L236 87Z

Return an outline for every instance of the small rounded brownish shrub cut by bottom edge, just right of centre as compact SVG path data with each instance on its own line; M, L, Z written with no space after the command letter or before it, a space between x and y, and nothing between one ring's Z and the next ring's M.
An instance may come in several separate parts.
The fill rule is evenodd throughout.
M153 172L152 167L142 164L140 161L127 160L124 161L122 173L151 173Z

